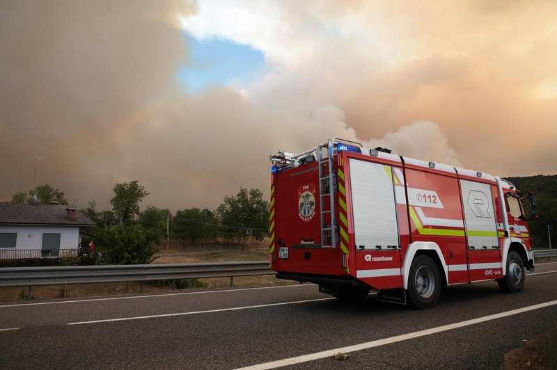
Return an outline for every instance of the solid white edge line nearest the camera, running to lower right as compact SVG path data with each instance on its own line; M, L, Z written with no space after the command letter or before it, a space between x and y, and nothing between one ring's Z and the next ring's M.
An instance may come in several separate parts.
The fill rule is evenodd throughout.
M437 328L431 328L426 330L420 330L418 332L411 332L404 335L397 335L396 337L384 338L384 339L377 339L375 341L368 341L366 343L355 344L354 346L347 346L341 348L334 348L328 351L322 351L317 353L311 353L310 355L302 355L298 357L290 357L285 358L283 360L266 362L264 364L257 364L249 367L242 367L242 369L238 370L263 370L263 369L274 369L276 367L284 367L294 364L300 364L302 362L308 362L313 360L320 360L325 357L332 357L336 353L349 353L354 351L361 351L368 348L384 346L385 344L396 343L398 341L405 341L408 339L414 339L418 337L423 337L425 335L436 334L438 332L445 332L447 330L453 330L457 328L463 328L464 326L469 325L476 325L478 323L484 323L485 321L492 321L496 319L501 319L503 317L512 316L516 314L522 314L524 312L533 311L534 309L542 309L544 307L554 306L557 305L557 300L551 300L551 302L540 303L539 305L533 305L528 307L522 307L519 309L512 309L511 311L501 312L499 314L493 314L489 316L478 317L477 319L471 319L466 321L460 321L460 323L452 323L448 325L439 326Z

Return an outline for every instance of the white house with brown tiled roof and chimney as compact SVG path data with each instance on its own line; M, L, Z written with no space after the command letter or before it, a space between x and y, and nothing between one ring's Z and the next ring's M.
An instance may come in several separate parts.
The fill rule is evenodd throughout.
M77 253L80 226L96 224L60 204L0 202L0 259L58 257L60 250Z

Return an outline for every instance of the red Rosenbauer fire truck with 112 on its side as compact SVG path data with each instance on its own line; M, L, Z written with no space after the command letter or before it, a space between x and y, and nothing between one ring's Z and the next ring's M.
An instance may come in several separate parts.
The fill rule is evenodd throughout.
M442 286L524 287L532 239L510 182L334 138L272 161L269 264L343 300L429 308ZM532 216L535 198L528 193Z

